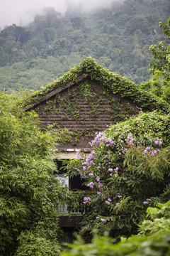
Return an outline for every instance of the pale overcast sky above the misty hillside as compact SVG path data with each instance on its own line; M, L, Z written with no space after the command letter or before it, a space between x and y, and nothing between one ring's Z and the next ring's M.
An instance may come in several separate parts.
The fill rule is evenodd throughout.
M43 7L54 7L56 11L66 11L66 1L71 4L81 4L84 10L93 10L96 7L108 6L113 0L0 0L0 27L21 24L33 21L35 14L40 14Z

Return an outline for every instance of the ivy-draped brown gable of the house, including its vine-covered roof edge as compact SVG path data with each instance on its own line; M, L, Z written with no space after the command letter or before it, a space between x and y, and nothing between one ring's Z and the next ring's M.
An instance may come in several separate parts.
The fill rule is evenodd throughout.
M95 132L103 131L140 110L169 111L159 97L140 89L135 82L111 73L93 58L82 60L50 85L38 91L26 107L36 110L43 125L74 132L68 148L88 148Z

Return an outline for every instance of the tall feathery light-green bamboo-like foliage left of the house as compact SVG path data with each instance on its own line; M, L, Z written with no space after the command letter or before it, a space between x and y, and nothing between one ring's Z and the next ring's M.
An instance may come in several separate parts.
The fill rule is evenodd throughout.
M23 112L24 95L0 93L0 255L59 255L56 203L68 196L51 154L61 134Z

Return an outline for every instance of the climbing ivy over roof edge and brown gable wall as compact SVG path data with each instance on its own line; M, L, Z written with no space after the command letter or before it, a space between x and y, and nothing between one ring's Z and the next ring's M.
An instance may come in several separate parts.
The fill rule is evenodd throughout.
M78 79L80 75L83 76L81 81ZM70 87L69 95L65 95L64 88L66 88L68 82L75 82L72 85L77 86ZM103 97L96 92L96 83L101 85L102 93L107 99L107 105L104 104ZM53 111L55 114L61 115L62 120L79 121L82 127L86 125L87 121L91 121L88 128L82 129L81 132L72 130L74 132L73 144L77 144L80 137L88 139L94 136L94 132L98 130L98 107L102 107L103 112L108 112L112 123L129 119L130 116L139 113L141 108L169 112L167 102L152 95L151 92L142 90L127 78L109 72L90 57L81 60L77 67L72 68L55 82L42 87L40 91L33 95L29 102L30 106L33 102L42 100L47 93L57 87L62 87L62 92L57 94L55 100L46 101L43 114L47 117L48 111ZM82 100L87 107L86 113L84 113L80 104ZM53 121L55 123L55 119ZM60 124L57 123L56 126L60 127Z

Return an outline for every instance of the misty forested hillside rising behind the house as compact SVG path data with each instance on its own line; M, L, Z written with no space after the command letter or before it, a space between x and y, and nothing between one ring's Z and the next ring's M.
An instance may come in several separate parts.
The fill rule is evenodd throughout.
M169 0L113 1L111 9L84 14L72 4L62 16L44 9L27 26L0 33L0 89L38 90L69 71L82 58L137 84L149 80L149 46L164 40L160 21L169 17Z

